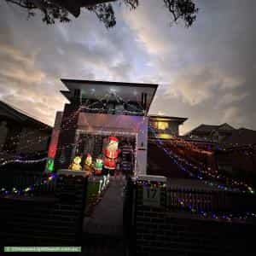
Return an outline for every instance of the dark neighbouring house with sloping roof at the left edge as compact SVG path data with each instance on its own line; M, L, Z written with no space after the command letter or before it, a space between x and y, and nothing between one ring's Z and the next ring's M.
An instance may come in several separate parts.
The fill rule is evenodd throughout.
M47 152L52 128L6 102L0 101L1 159L17 154Z

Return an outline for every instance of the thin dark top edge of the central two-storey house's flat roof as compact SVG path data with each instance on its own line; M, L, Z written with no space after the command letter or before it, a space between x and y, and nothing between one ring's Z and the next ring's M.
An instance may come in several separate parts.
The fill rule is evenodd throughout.
M143 84L143 83L126 83L126 82L111 82L111 81L96 81L96 80L82 80L82 79L61 79L63 84L65 83L90 83L90 84L114 84L121 86L136 86L136 87L151 87L155 90L158 88L158 84Z

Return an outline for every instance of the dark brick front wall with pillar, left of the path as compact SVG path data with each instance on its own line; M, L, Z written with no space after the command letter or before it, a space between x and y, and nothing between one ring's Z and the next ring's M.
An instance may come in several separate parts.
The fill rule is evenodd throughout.
M60 176L51 196L38 190L32 197L0 196L0 245L80 244L86 184L84 177Z

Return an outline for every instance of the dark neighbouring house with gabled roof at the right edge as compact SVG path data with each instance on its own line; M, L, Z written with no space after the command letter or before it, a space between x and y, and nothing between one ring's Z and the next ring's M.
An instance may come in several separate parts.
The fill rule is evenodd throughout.
M219 171L256 184L256 131L229 124L199 125L183 139L212 150Z

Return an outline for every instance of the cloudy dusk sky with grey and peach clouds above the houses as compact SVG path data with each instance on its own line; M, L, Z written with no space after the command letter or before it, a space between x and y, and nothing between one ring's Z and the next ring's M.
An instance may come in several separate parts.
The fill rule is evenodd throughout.
M0 100L53 125L61 78L160 84L150 113L187 117L181 128L224 122L256 130L256 1L198 0L195 24L170 26L162 1L115 6L107 30L83 10L68 24L0 2Z

